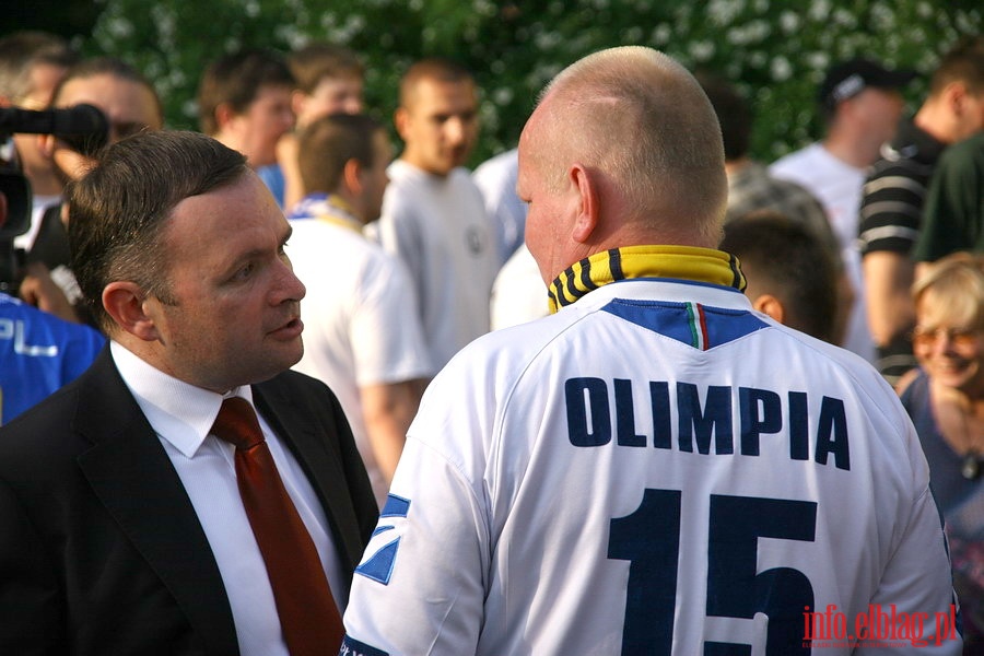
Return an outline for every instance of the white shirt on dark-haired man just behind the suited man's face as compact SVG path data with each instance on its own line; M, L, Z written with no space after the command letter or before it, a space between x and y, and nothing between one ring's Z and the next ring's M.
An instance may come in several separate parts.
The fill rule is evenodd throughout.
M426 378L433 367L402 263L366 239L354 218L318 196L308 202L311 213L292 213L286 247L307 289L304 356L294 368L338 396L382 507L389 484L373 454L360 389Z

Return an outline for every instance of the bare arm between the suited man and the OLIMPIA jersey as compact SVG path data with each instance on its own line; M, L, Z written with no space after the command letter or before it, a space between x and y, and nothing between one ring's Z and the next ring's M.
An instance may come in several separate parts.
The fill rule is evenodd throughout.
M359 388L370 445L387 485L393 482L393 473L407 440L407 429L417 414L421 388L419 380L365 385Z

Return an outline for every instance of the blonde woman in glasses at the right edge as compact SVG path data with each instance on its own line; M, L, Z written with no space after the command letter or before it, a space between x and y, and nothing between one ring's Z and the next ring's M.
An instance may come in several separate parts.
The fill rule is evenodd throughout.
M900 385L947 523L969 649L984 631L984 254L957 253L913 285L919 367Z

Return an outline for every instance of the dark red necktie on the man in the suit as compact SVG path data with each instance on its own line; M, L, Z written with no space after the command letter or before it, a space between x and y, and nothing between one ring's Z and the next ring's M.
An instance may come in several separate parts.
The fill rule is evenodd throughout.
M236 479L291 656L335 654L344 635L317 549L288 495L249 401L222 401L212 434L236 447Z

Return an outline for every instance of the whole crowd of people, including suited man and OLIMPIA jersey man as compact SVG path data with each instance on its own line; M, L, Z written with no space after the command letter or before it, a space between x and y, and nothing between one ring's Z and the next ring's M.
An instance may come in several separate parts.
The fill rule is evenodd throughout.
M984 37L915 77L835 62L770 164L611 48L472 172L453 59L395 148L333 44L218 57L190 131L0 37L0 107L106 121L0 151L0 653L982 653Z

